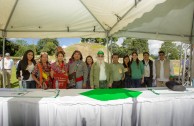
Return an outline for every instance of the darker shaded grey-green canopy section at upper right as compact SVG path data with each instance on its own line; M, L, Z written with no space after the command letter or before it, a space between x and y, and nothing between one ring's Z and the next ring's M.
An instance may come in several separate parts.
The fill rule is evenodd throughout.
M158 4L141 18L129 22L115 36L182 41L191 44L190 75L194 79L194 0L167 0Z

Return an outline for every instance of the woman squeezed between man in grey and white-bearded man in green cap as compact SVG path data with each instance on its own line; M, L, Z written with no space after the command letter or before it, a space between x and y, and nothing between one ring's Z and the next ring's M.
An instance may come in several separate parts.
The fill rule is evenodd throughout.
M87 82L86 82L86 89L90 89L91 88L90 87L90 70L91 70L92 64L94 63L92 56L90 56L90 55L87 56L85 63L86 63L87 68L88 68L88 78L87 78Z

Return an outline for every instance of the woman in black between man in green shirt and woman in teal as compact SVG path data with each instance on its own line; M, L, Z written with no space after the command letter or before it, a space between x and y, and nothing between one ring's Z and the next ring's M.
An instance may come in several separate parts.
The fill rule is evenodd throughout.
M126 55L123 57L123 66L125 72L124 86L125 88L132 88L131 86L131 64L129 56Z

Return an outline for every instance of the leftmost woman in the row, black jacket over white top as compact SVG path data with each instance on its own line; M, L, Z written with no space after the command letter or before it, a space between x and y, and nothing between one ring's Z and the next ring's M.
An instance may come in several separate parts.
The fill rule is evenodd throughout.
M32 50L27 50L16 70L16 77L18 80L22 81L23 87L36 88L36 82L32 78L32 71L34 70L35 65L34 52ZM26 84L24 82L26 82Z

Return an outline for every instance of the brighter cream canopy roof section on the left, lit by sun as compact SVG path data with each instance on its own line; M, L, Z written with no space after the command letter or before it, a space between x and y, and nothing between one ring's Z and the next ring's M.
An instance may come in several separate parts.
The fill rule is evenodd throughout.
M8 38L106 37L164 1L0 0L0 30Z

